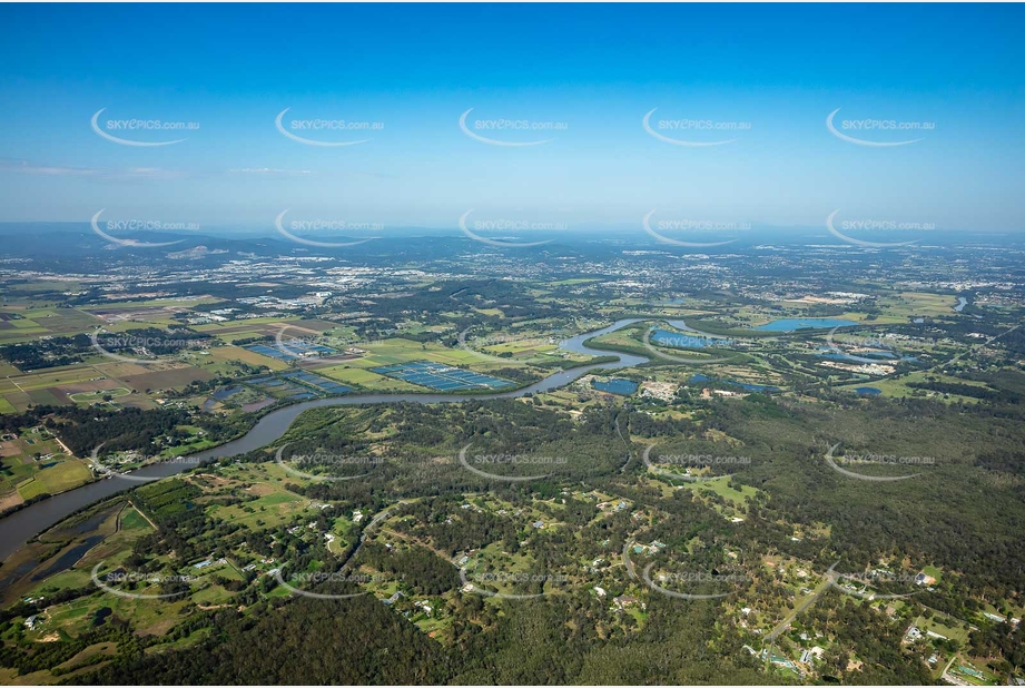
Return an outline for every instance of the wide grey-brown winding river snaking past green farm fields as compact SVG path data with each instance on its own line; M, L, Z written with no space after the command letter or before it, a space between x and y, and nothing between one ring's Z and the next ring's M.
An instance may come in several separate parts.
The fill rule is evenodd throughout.
M89 483L87 485L82 485L81 488L76 488L75 490L69 490L67 492L62 492L49 499L42 500L30 507L26 507L21 511L17 511L9 517L0 519L0 561L6 561L30 539L57 524L62 519L71 515L76 511L88 507L89 504L107 499L108 497L117 494L118 492L130 490L131 488L137 488L146 480L167 478L168 475L174 475L175 473L180 473L181 471L194 468L204 461L236 456L238 454L245 454L246 452L250 452L253 450L270 444L288 431L288 427L292 426L293 421L295 421L295 419L298 417L300 413L308 411L309 409L318 409L321 406L351 406L357 404L394 404L398 402L437 404L480 401L487 399L511 399L536 392L548 392L558 387L565 386L594 368L617 370L647 363L648 358L644 356L635 356L619 352L599 351L584 345L587 340L614 332L625 327L627 325L642 322L644 320L651 318L632 317L617 321L608 327L602 327L601 330L595 330L594 332L576 335L575 337L565 340L559 344L559 347L564 351L579 354L588 354L592 356L618 356L619 361L582 365L566 371L560 371L549 375L540 382L535 382L530 386L514 390L512 392L500 392L497 394L487 395L431 393L355 394L352 396L317 399L292 406L285 406L283 409L278 409L277 411L272 411L262 417L249 432L238 438L237 440L226 442L225 444L208 449L197 454L181 456L175 461L167 461L164 463L148 465L137 471L132 471L126 476L114 476L107 480Z

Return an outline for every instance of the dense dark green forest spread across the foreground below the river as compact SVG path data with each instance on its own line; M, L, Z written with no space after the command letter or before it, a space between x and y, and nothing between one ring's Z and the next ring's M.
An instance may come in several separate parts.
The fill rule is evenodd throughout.
M154 415L142 426L156 430L180 420L169 412ZM766 395L694 406L689 417L679 419L657 419L629 404L594 405L573 419L530 400L314 410L283 441L285 461L303 465L304 455L324 451L345 455L373 451L384 460L362 480L314 481L288 484L288 489L345 512L388 508L395 537L420 544L393 550L376 540L362 547L352 540L341 558L332 557L323 543L302 533L246 529L210 519L199 508L246 504L256 499L253 495L207 492L193 481L173 479L136 491L137 505L159 531L137 542L126 566L146 571L156 558L170 553L189 561L211 552L227 556L243 547L289 561L298 570L334 561L327 570L339 571L348 561L397 578L407 594L430 598L450 594L462 584L452 559L499 543L503 551L499 561L526 556L529 572L541 574L539 579L569 572L563 577L566 584L558 594L497 605L480 596L456 596L444 603L452 625L440 642L373 596L335 601L265 599L273 588L268 578L218 579L235 591L233 605L208 611L194 608L170 635L190 639L187 649L147 652L157 639L136 638L112 661L76 681L762 682L762 662L742 649L745 635L727 610L752 598L769 607L789 603L776 579L760 572L759 562L767 556L794 557L821 571L836 566L858 572L881 560L928 562L948 571L942 583L911 598L909 615L978 619L979 600L1021 602L1025 554L1019 538L1025 523L1017 510L1005 508L1022 499L1021 420L1014 407L984 410L916 399L869 404L849 397L801 404ZM68 415L63 422L82 419ZM822 430L809 436L807 427ZM82 436L80 441L88 443L88 433ZM729 484L755 490L740 508L745 521L731 525L723 520L718 510L726 502L712 493L673 490L668 497L659 485L672 486L677 481L652 476L638 459L649 439L659 443L659 454L708 456L742 448L750 462L730 470ZM929 455L935 464L904 482L850 480L821 460L836 443L850 452ZM495 483L466 471L456 460L467 444L489 455L516 451L562 455L568 461L544 479ZM260 465L267 456L254 452L242 461ZM204 471L228 474L230 464L225 461ZM516 465L491 468L511 471L510 475L531 471ZM353 469L311 470L345 474ZM864 470L885 473L888 469ZM631 515L628 509L595 521L594 503L569 494L563 486L568 484L614 493L633 504L634 512ZM493 512L467 509L476 503L473 499L466 503L467 493L485 492L512 507L558 519L565 528L523 531ZM395 505L400 498L412 501ZM331 513L322 511L314 524L328 528ZM459 514L455 522L453 513ZM644 514L640 525L638 514ZM795 528L828 534L791 538ZM747 582L726 588L701 583L697 588L701 591L725 590L721 598L706 601L649 596L645 620L639 625L631 616L610 610L587 586L574 582L572 573L576 562L598 562L603 552L618 551L638 538L661 542L666 551L678 553L674 563L658 563L666 574L686 580L700 571L716 571ZM634 554L633 560L645 570L660 561L650 552ZM629 579L610 578L612 569L605 567L599 564L609 594L625 594L631 589ZM890 588L903 590L899 583ZM313 589L354 588L327 582ZM543 583L529 581L519 588L524 593L544 590ZM97 627L96 637L124 633L128 622L114 615ZM925 657L907 661L909 653L919 650L901 645L905 626L906 621L891 620L831 590L798 628L829 633L822 671L834 680L929 682ZM783 636L778 642L789 648L794 640ZM1011 672L1022 666L1021 630L985 626L970 633L969 643L979 655L992 657L994 668ZM53 666L70 650L52 657L51 651L8 648L3 664L26 669Z

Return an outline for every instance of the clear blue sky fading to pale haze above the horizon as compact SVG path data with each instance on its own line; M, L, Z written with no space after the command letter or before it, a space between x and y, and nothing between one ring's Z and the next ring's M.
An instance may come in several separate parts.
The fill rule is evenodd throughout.
M0 220L1018 230L1017 6L11 6ZM101 130L160 147L119 145ZM323 141L311 146L275 127ZM482 142L460 128L504 142ZM681 146L647 132L717 146ZM841 140L826 128L837 108ZM198 122L118 131L112 119ZM311 131L294 119L383 122ZM558 130L479 128L509 119ZM855 130L857 119L932 122ZM716 130L672 121L725 122ZM536 122L536 124L535 124ZM550 125L546 122L555 122ZM660 124L662 126L660 127ZM729 124L735 122L735 124ZM749 125L749 128L740 128Z

